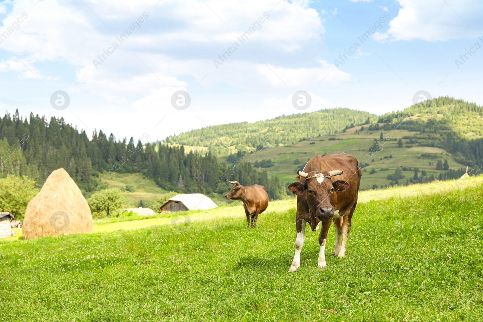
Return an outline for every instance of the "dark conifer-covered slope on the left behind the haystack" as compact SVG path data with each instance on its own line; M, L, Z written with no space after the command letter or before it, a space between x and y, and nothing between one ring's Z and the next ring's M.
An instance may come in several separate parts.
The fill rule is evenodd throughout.
M49 174L64 168L83 193L102 189L114 172L141 172L170 191L210 194L226 193L227 180L242 184L263 184L271 199L285 193L278 178L267 170L256 171L250 163L237 171L219 165L211 152L185 153L183 146L169 147L163 143L142 144L116 140L102 130L89 139L63 118L47 122L30 113L22 119L18 111L8 112L0 119L0 177L9 174L28 176L41 187ZM104 186L105 188L105 186Z

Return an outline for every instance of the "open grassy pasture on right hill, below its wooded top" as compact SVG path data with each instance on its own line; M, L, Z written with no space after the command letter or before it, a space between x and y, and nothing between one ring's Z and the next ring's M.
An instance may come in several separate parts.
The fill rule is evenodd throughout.
M454 160L451 154L438 147L404 144L402 148L399 148L398 140L411 134L407 130L383 131L384 136L388 135L387 138L391 140L381 142L382 149L371 154L369 148L372 146L374 139L380 139L382 131L369 131L367 126L361 131L361 127L357 126L348 129L345 133L340 132L317 138L318 140L304 140L291 146L263 149L254 154L250 162L254 163L263 159L272 160L274 165L269 168L270 174L278 175L283 182L287 183L295 181L297 168L303 169L307 161L314 155L344 152L355 156L360 166L366 166L362 169L360 186L362 190L371 189L373 185L378 187L390 185L391 180L387 179L387 175L394 174L396 168L401 166L405 170L402 171L404 178L399 180L399 184L405 184L407 180L413 179L414 167L419 168L419 176L421 176L422 170L425 170L426 177L433 175L438 179L439 174L445 172L444 170L436 170L438 160L442 160L443 163L444 160L447 160L450 169L456 170L463 167ZM330 138L342 140L329 140ZM312 142L314 143L311 144ZM421 156L422 154L428 155ZM371 173L371 171L375 172Z

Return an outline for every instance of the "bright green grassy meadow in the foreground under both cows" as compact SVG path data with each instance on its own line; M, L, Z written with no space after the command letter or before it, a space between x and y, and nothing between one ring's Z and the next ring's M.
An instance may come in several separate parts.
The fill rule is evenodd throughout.
M357 206L345 258L294 210L0 242L1 321L481 321L483 185ZM223 210L223 209L221 209ZM439 320L438 320L439 319Z

